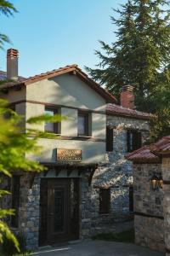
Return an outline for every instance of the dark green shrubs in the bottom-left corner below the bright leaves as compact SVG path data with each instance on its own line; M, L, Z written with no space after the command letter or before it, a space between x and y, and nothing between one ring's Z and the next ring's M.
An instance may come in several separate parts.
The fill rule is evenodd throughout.
M26 236L22 232L19 232L15 235L17 241L20 243L20 253L27 253L26 250ZM13 256L17 255L18 251L16 247L14 247L14 242L4 237L3 245L1 247L1 253L3 255Z

